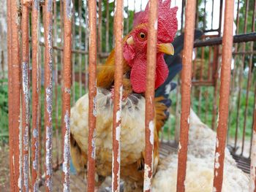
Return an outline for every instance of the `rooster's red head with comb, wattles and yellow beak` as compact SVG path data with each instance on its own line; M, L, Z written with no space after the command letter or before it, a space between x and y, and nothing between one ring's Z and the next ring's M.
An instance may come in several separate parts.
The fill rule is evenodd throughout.
M176 12L178 7L170 8L170 0L159 0L158 28L157 28L157 69L155 88L165 82L168 68L165 64L164 53L174 53L173 42L177 31ZM148 37L148 4L145 11L135 14L134 28L124 39L124 59L132 68L130 80L132 90L136 93L146 91L146 53Z

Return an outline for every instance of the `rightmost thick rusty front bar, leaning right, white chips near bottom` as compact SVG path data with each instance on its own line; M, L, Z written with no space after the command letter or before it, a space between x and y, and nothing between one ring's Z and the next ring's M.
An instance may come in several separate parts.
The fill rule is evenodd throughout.
M223 166L227 136L228 103L230 93L230 71L233 47L234 1L225 1L225 21L222 43L222 70L219 90L219 117L217 126L216 151L214 159L214 189L222 191Z

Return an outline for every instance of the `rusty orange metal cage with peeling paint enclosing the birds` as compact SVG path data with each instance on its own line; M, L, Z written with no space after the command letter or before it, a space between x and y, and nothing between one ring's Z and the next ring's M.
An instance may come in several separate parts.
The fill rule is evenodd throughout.
M120 190L122 37L134 27L136 13L144 9L148 9L149 40L143 95L143 191L151 191L151 123L156 116L152 99L157 98L153 78L156 54L151 53L157 53L155 25L158 4L164 2L151 0L145 8L148 1L7 0L8 72L1 53L1 84L7 86L8 77L9 136L3 137L9 137L10 191L94 191L97 73L113 49L113 138L117 139L113 139L112 183L99 190ZM173 0L170 7L175 6L182 72L173 80L177 85L164 87L170 92L176 86L170 92L173 102L167 112L169 118L159 133L159 157L177 153L176 191L185 191L192 108L208 127L217 131L212 159L213 191L222 191L226 148L238 168L250 174L248 188L255 191L256 1ZM86 93L89 155L85 182L72 174L70 165L70 108Z

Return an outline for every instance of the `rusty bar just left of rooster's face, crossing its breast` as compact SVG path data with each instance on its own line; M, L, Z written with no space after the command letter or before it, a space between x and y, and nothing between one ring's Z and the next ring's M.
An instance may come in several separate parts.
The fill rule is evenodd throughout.
M120 135L121 135L121 98L123 92L123 44L124 31L124 1L116 1L115 14L115 85L113 105L113 166L112 191L120 191Z

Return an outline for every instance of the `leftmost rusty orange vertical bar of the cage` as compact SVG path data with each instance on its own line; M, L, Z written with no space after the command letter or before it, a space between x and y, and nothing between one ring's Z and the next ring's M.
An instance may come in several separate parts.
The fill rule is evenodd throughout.
M15 168L14 168L14 152L13 152L13 138L12 138L12 23L11 23L11 0L7 0L7 50L8 50L8 121L9 121L9 164L10 164L10 191L15 189Z

